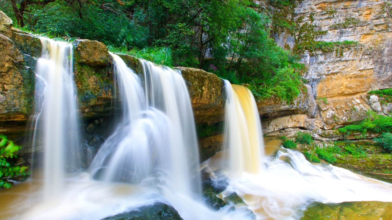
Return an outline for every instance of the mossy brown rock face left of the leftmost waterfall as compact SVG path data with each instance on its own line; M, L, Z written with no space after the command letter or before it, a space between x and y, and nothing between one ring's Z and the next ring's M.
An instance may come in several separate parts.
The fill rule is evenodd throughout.
M26 40L26 32L14 32L12 21L0 11L0 132L24 132L29 115L34 113L36 47ZM20 39L20 42L15 42ZM38 41L40 41L38 39ZM23 47L31 44L31 49Z

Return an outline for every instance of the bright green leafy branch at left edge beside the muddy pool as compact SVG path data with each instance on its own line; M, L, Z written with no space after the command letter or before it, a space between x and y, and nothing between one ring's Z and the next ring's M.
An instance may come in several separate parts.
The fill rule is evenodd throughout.
M20 150L20 146L15 145L7 137L0 135L0 187L10 188L9 180L16 177L25 177L28 175L26 166L15 166L15 153Z

